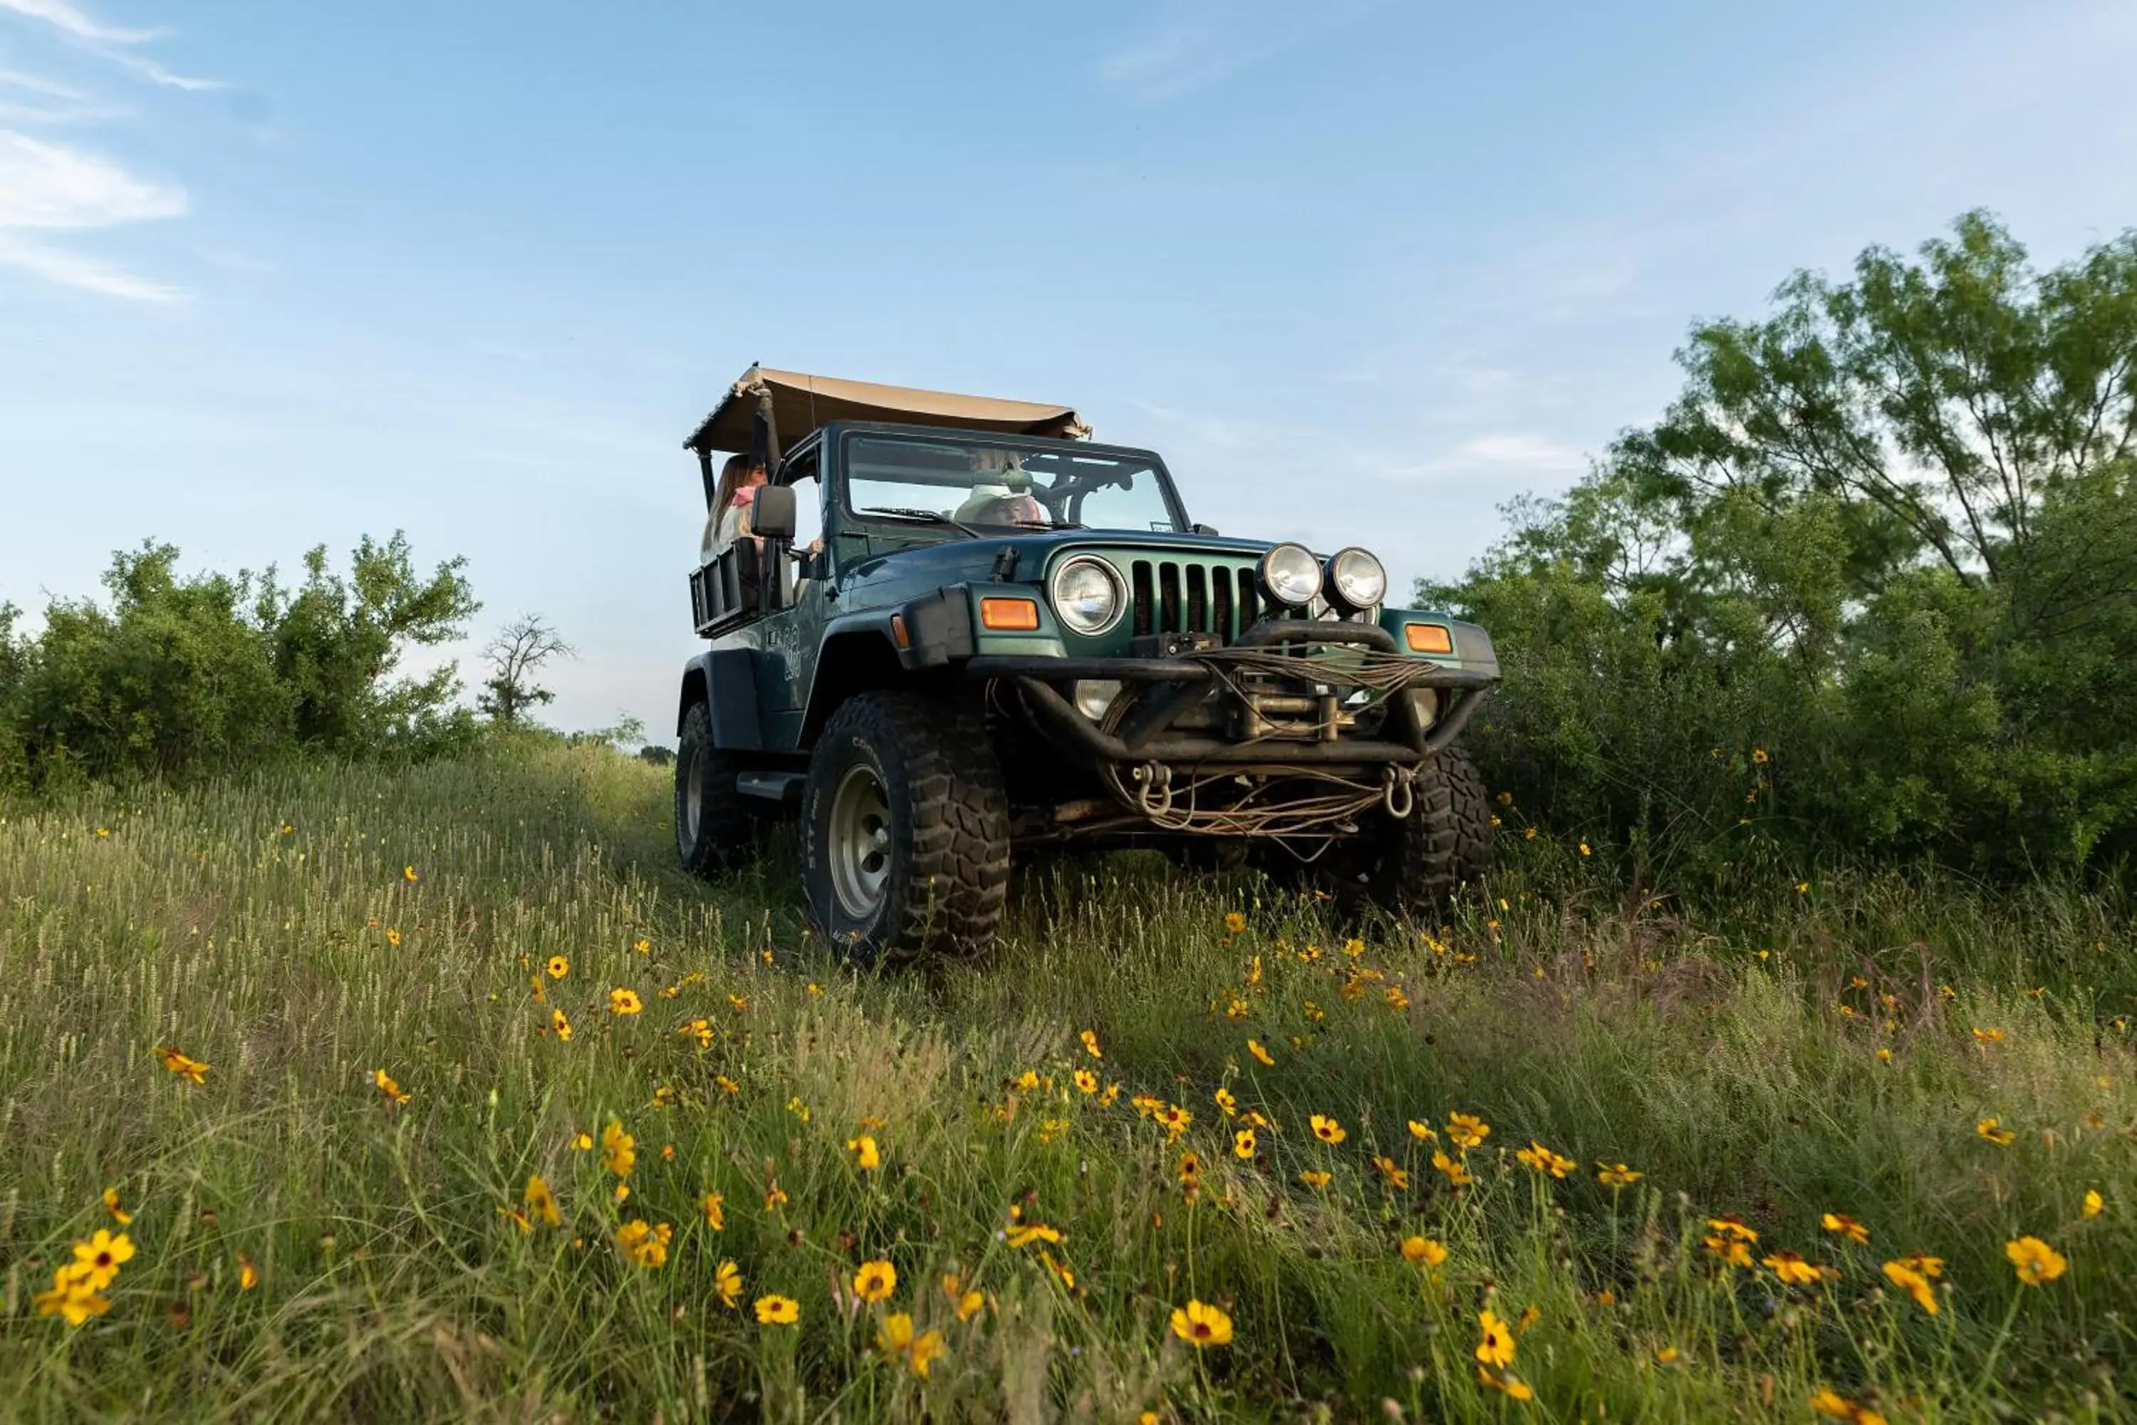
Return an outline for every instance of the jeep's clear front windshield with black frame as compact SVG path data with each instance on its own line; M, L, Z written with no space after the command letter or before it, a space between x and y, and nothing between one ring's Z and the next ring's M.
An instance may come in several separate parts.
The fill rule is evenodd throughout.
M1148 455L930 436L853 436L846 506L989 534L1182 528L1165 470Z

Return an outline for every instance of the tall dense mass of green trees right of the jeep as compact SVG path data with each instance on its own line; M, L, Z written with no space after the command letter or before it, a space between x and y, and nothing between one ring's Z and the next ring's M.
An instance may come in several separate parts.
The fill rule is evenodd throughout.
M1654 427L1436 590L1509 654L1496 776L1641 855L2128 848L2137 235L2037 273L1968 214L1678 361Z

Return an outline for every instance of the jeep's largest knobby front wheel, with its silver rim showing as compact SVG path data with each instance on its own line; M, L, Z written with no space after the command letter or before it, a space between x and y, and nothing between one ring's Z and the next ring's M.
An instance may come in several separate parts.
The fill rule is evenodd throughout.
M816 741L801 797L810 917L857 966L979 955L1009 902L1009 795L977 714L863 692Z

